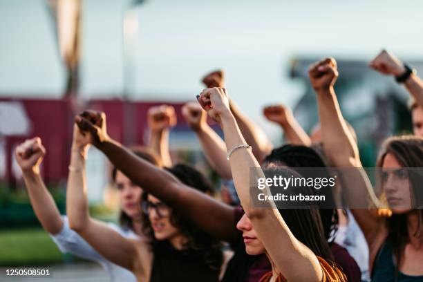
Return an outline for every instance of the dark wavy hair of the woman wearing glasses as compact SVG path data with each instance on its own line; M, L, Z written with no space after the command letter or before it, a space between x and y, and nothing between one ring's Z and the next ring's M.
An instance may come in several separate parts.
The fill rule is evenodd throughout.
M187 164L175 164L173 167L164 169L172 173L173 176L176 176L185 185L211 196L214 194L214 189L209 180L202 173L194 169L194 167L190 167ZM148 194L144 192L142 194L141 205L144 201L147 201L147 197ZM223 262L220 241L191 223L177 209L171 209L170 222L187 238L184 250L199 254L210 269L220 269L220 265ZM160 246L160 241L154 237L148 214L142 214L142 229L147 238L149 238L153 248Z

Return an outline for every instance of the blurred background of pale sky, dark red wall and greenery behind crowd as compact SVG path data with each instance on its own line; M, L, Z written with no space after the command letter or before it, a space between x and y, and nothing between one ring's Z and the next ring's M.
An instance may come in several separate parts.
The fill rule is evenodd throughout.
M423 73L422 8L419 0L0 1L0 266L55 263L66 276L75 263L39 227L12 152L41 137L42 174L64 212L73 117L82 109L105 111L111 137L131 145L147 140L147 109L172 104L173 158L215 178L180 106L216 68L229 96L279 145L283 133L263 106L291 106L310 132L318 118L307 69L335 57L341 108L373 166L380 142L411 132L411 119L404 89L367 65L386 48ZM114 220L110 166L95 149L87 170L92 214Z

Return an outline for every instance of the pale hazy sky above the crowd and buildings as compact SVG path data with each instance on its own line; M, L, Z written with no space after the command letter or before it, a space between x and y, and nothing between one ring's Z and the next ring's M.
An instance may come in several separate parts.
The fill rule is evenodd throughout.
M116 97L125 84L137 100L194 100L200 77L223 68L229 95L266 131L274 127L261 106L293 106L303 93L288 77L294 57L370 60L388 48L423 59L419 0L147 0L133 10L138 32L126 61L129 1L82 1L82 97ZM45 1L0 1L0 38L0 96L61 96Z

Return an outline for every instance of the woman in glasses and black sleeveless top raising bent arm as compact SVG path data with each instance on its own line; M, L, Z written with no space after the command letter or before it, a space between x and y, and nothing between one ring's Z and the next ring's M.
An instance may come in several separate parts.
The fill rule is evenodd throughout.
M75 153L69 168L66 205L71 228L104 257L131 270L138 281L218 281L223 263L218 241L189 225L177 208L159 198L144 195L142 205L148 216L144 218L144 231L151 235L144 238L125 238L89 216L84 152L91 135L77 127L74 134ZM203 189L207 182L194 181L198 175L193 171L176 167L169 174L187 181L185 185Z

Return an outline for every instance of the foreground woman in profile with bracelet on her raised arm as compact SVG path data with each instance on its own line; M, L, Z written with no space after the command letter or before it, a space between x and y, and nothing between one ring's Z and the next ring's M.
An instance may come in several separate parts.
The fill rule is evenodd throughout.
M319 209L278 210L274 203L267 209L252 206L250 180L264 174L229 110L225 88L205 89L198 102L225 134L232 176L245 211L238 228L243 230L246 250L251 254L265 252L272 263L272 272L261 281L345 281L344 274L330 263ZM256 170L251 170L254 167ZM250 222L252 228L242 227Z

